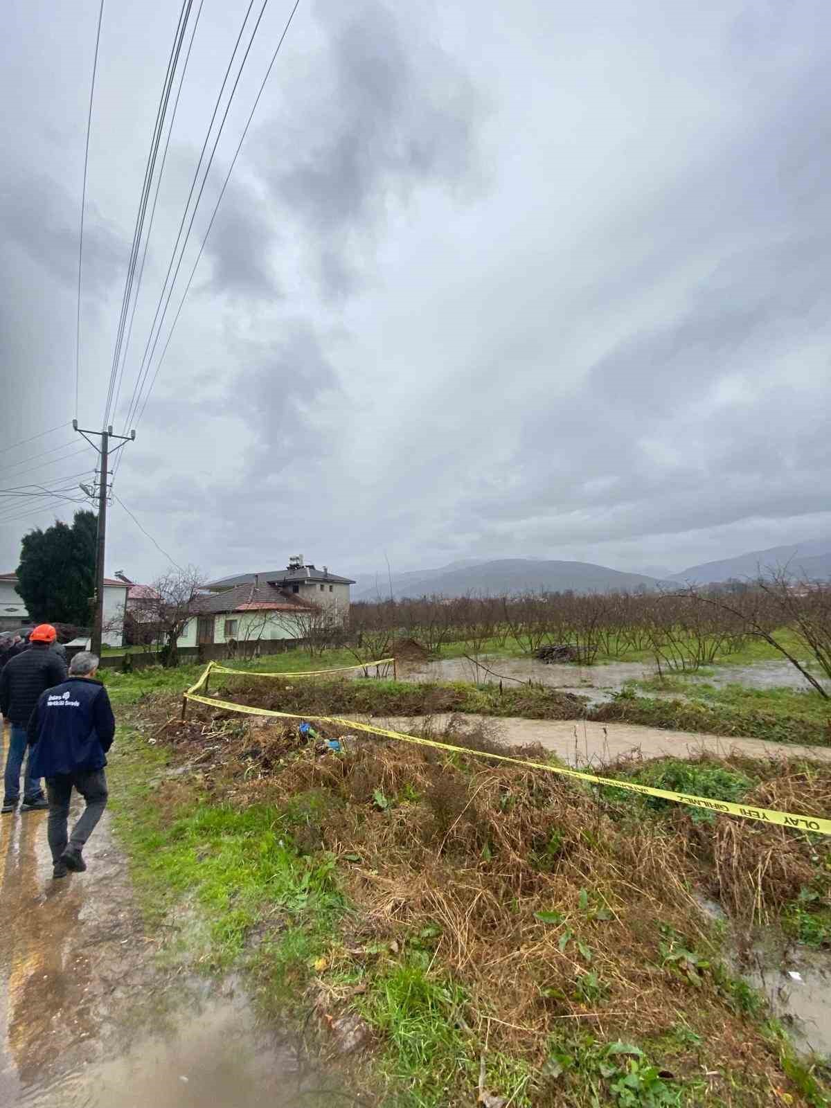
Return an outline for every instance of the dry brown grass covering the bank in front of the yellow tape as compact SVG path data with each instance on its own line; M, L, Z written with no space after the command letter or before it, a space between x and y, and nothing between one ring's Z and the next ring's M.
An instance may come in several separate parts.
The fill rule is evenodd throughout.
M695 890L715 891L742 925L774 919L815 872L810 837L729 818L702 827L680 808L663 818L473 755L359 736L334 756L322 741L338 737L330 728L316 725L321 742L306 745L293 722L199 717L165 735L207 791L302 812L298 845L340 860L358 922L332 944L327 995L348 997L339 982L371 978L378 955L368 948L380 938L461 985L458 1022L476 1050L488 1043L541 1067L577 1028L601 1042L645 1043L681 1022L701 1035L711 1070L743 1075L741 1096L714 1078L719 1102L767 1104L773 1083L789 1088L777 1051L711 971L679 972L668 954L717 956ZM445 737L504 750L493 730L459 721ZM777 763L749 802L827 814L831 773ZM669 1054L674 1071L693 1079L700 1053ZM742 1099L748 1088L758 1100ZM568 1089L542 1084L534 1104L573 1102Z

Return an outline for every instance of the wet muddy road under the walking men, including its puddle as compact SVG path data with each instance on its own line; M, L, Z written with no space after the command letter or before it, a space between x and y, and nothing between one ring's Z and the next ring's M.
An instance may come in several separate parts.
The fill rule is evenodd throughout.
M45 813L2 817L2 1108L330 1102L331 1079L238 987L160 967L107 814L84 855L86 873L53 881Z

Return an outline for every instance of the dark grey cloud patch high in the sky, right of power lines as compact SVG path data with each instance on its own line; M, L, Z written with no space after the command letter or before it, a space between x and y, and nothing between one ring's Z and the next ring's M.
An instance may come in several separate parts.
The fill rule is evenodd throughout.
M473 179L483 102L401 9L365 0L318 4L317 14L329 41L316 96L288 137L283 119L263 130L259 164L275 199L318 240L324 288L340 295L359 279L353 236L377 228L390 204Z

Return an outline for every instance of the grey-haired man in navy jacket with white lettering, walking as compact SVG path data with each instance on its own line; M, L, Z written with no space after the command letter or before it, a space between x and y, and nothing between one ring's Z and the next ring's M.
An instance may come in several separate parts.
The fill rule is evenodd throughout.
M81 851L106 807L104 766L115 720L106 689L95 679L98 668L94 654L76 654L66 680L41 694L27 729L32 748L29 762L33 772L47 779L54 878L65 878L68 870L82 873L86 869ZM68 838L73 788L86 807Z

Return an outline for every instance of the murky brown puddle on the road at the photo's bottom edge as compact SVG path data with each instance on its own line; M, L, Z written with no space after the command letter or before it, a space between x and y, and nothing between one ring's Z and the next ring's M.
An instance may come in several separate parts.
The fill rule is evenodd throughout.
M111 1061L21 1090L20 1108L319 1108L337 1087L258 1028L243 999L213 999ZM347 1104L351 1098L345 1098Z

